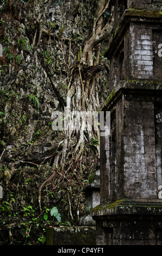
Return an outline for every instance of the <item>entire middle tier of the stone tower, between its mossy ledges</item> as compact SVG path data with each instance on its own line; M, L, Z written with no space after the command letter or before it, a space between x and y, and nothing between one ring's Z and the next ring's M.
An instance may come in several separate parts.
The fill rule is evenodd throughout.
M120 198L158 199L162 185L161 102L160 95L128 92L111 107L110 136L101 137L102 203Z

